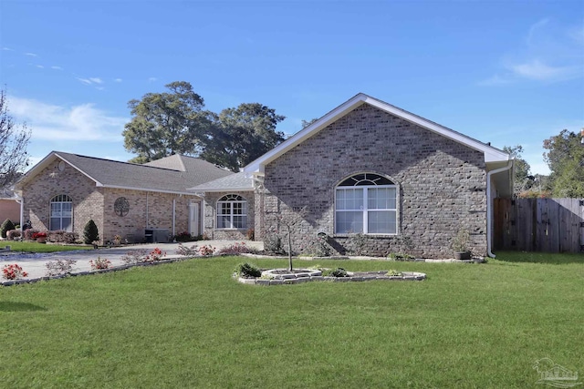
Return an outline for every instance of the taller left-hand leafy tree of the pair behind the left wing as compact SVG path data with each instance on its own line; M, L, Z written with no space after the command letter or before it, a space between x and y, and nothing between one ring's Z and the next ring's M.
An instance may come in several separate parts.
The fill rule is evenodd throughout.
M165 93L147 93L141 100L130 100L130 123L124 126L124 147L144 163L172 154L197 155L202 134L211 125L210 113L203 111L203 97L191 84L175 81Z

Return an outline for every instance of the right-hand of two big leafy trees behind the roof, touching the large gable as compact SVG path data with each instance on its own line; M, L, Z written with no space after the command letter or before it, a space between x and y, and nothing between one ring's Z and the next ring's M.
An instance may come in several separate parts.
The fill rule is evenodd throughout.
M214 116L211 131L202 140L201 158L239 171L284 140L276 125L285 118L259 103L226 108Z

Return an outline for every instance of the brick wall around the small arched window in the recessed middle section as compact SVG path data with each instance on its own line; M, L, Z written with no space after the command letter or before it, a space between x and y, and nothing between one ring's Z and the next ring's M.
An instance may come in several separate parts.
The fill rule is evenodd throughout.
M217 224L217 200L227 194L239 195L247 200L247 227L236 230L218 230ZM218 240L245 240L247 231L255 228L255 196L252 191L226 191L226 192L208 192L204 198L204 234L209 239Z

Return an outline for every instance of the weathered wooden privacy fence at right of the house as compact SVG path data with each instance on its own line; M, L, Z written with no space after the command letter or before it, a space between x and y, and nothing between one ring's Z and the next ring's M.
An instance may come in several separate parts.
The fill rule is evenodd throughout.
M496 250L583 252L584 200L495 199Z

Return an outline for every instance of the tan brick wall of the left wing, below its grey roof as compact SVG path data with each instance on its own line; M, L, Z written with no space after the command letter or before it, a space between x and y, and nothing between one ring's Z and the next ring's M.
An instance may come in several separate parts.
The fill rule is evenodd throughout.
M48 230L50 200L58 194L67 194L73 200L73 231L79 234L79 239L83 238L85 224L93 219L99 229L100 244L112 241L115 235L128 241L143 241L146 227L164 228L172 233L172 200L176 201L175 233L187 231L189 204L192 200L200 200L196 196L171 193L99 188L77 169L66 164L65 169L59 171L57 164L58 160L23 189L23 219L31 220L37 230ZM130 203L130 211L123 217L114 211L114 202L120 197Z

